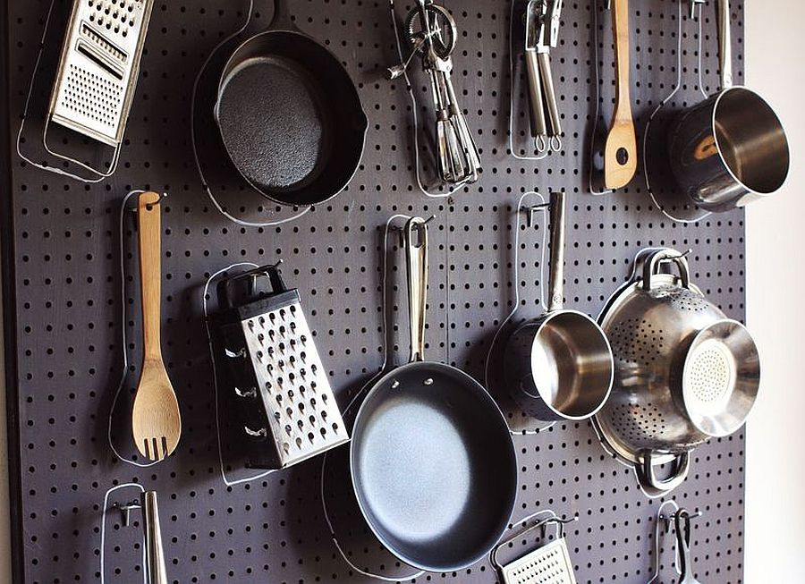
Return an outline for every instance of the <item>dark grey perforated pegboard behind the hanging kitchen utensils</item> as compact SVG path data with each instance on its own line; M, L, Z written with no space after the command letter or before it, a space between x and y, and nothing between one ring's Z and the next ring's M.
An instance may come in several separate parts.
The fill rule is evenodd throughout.
M56 0L57 10L69 9ZM253 30L265 28L272 9L258 0ZM397 6L402 16L407 6ZM174 582L369 582L351 571L335 551L321 512L321 461L226 487L215 437L212 368L202 320L201 289L208 276L237 261L258 264L284 259L288 284L301 289L310 326L329 368L339 401L373 376L383 360L382 227L395 213L436 215L431 224L431 270L427 355L446 360L483 380L484 361L501 321L513 306L517 318L536 317L540 287L541 221L518 227L521 194L551 188L568 192L566 293L568 305L597 315L608 295L623 283L635 252L650 245L691 248L694 281L731 317L744 316L744 228L742 212L711 216L698 224L674 223L648 198L642 174L614 194L589 194L589 136L609 121L614 98L610 17L592 0L565 3L560 46L554 53L555 82L565 131L561 152L541 162L515 159L507 151L509 115L509 4L502 0L445 0L458 23L453 80L475 132L484 164L481 180L453 199L425 199L416 186L411 140L411 103L400 80L383 72L397 61L386 0L294 0L302 30L326 43L356 81L369 114L369 135L360 170L336 199L290 224L248 228L227 221L207 198L191 155L190 103L196 73L207 55L244 18L242 2L197 0L155 4L140 85L131 111L120 168L95 185L43 173L16 156L10 168L13 261L4 299L6 341L13 356L9 387L12 453L15 582L99 580L101 507L106 489L139 482L160 497L167 568ZM3 11L9 35L10 131L14 140L38 52L49 0L15 0ZM598 26L593 25L597 11ZM678 4L673 0L631 3L633 106L641 133L648 114L673 88L677 75ZM699 95L699 26L682 7L682 89L658 116ZM733 2L733 35L739 68L742 57L741 2ZM59 20L56 19L55 22ZM717 89L716 16L704 8L701 78ZM735 30L733 29L733 30ZM46 45L60 43L58 26ZM56 40L54 40L54 38ZM596 58L597 55L597 58ZM47 72L44 83L52 81ZM596 71L599 81L596 87ZM741 80L741 74L738 78ZM51 80L48 80L51 75ZM515 67L515 128L527 121L521 63ZM427 80L414 73L413 89L428 97ZM739 81L740 82L740 81ZM420 105L426 103L420 101ZM421 118L422 116L420 116ZM427 116L426 116L427 117ZM515 131L515 148L524 141ZM30 139L23 147L30 146ZM662 147L650 140L649 151ZM428 164L428 153L423 155ZM658 157L657 157L658 159ZM595 165L595 161L593 162ZM427 171L427 169L425 169ZM657 170L657 196L673 191ZM259 219L274 208L234 183L216 187L227 208ZM163 203L163 339L165 361L182 407L182 442L172 458L148 469L114 459L106 444L106 419L123 360L121 333L129 338L129 359L140 362L138 276L134 220L126 219L126 298L120 296L118 212L126 192L165 191ZM682 214L696 209L680 207ZM521 229L519 278L513 281L514 230ZM7 248L6 251L9 251ZM389 251L389 259L402 262ZM402 264L401 264L402 265ZM388 294L389 353L407 358L402 270L391 270ZM123 304L122 304L123 303ZM130 309L123 319L123 305ZM136 382L131 368L127 388ZM494 376L493 376L494 377ZM511 425L530 427L495 384ZM118 413L131 403L125 392ZM125 416L115 418L116 444L131 454ZM582 584L642 584L651 575L654 517L658 501L646 498L630 469L598 444L589 423L558 424L538 436L515 436L521 491L514 519L542 508L577 514L568 529L576 576ZM225 449L226 450L226 449ZM342 448L329 459L325 494L340 541L361 569L386 577L411 573L397 563L356 517ZM227 476L253 471L229 460ZM340 462L339 462L340 461ZM744 436L700 446L691 476L674 498L704 516L693 532L699 580L742 581ZM131 498L121 494L117 501ZM106 581L136 582L140 530L106 524ZM533 539L515 542L525 551ZM673 535L663 539L663 578L675 581ZM511 550L517 554L518 550ZM496 582L489 563L426 581Z

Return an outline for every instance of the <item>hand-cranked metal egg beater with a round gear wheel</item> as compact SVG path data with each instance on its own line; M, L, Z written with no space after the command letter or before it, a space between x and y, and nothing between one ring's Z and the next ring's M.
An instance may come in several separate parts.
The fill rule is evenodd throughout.
M390 68L389 77L400 77L413 55L422 56L428 72L436 109L436 150L439 176L444 182L476 182L481 170L480 156L470 128L453 89L453 50L458 37L453 15L433 0L417 0L406 19L411 56Z

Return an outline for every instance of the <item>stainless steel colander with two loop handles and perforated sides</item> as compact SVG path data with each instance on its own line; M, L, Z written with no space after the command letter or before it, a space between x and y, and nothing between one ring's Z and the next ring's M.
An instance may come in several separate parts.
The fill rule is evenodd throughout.
M679 275L661 273L669 262ZM663 495L682 484L695 446L743 425L758 394L757 347L745 326L691 284L686 259L669 249L640 252L599 323L615 375L596 426L634 464L648 495ZM655 467L668 462L671 477L658 479Z

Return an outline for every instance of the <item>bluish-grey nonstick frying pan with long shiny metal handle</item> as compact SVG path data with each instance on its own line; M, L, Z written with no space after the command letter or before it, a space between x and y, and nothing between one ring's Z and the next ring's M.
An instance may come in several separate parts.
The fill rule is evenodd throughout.
M413 243L419 232L419 245ZM485 557L511 520L517 461L487 391L423 360L427 227L406 226L411 362L372 387L352 428L352 487L369 527L403 562L457 571Z

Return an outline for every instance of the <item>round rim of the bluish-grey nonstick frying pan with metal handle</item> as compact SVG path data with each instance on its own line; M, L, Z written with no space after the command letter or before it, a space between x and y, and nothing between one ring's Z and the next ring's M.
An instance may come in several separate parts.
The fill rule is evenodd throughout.
M383 537L383 536L380 535L380 533L377 531L377 528L375 527L375 525L372 523L372 521L369 521L369 518L367 517L367 512L365 511L366 505L361 500L361 495L360 495L359 489L357 487L357 476L356 476L356 467L357 467L357 465L355 463L355 459L356 459L356 456L357 456L356 447L355 447L355 444L356 444L355 427L358 427L361 419L366 418L367 414L364 413L366 411L365 410L366 404L369 403L370 400L373 399L374 396L376 396L384 388L386 383L392 377L398 376L401 373L404 373L404 372L406 372L406 371L408 371L410 369L428 368L428 367L429 368L439 368L439 369L445 370L446 372L458 374L458 376L462 378L462 381L466 381L467 385L473 386L473 389L480 390L480 395L483 396L483 401L487 402L489 405L491 405L494 408L494 410L497 412L496 420L499 421L499 423L502 426L502 430L505 431L505 435L508 438L508 440L506 441L506 444L508 444L508 448L506 448L506 450L507 450L506 454L508 455L507 458L512 461L511 469L510 469L510 470L512 470L512 473L511 473L510 478L511 478L513 488L512 488L512 493L511 493L511 496L510 496L510 502L509 502L509 504L507 504L507 512L506 512L505 521L502 521L500 529L496 530L496 532L493 534L495 536L495 542L500 541L500 538L504 536L504 533L506 532L506 530L509 527L509 523L512 521L512 516L513 516L513 513L514 513L514 507L517 504L517 492L518 492L519 481L518 481L518 467L517 467L517 451L514 448L513 436L512 436L511 430L509 428L508 422L505 419L503 411L500 409L500 406L497 404L497 402L492 397L492 395L489 394L489 392L487 391L486 387L481 385L478 382L478 380L476 380L474 377L471 377L470 375L468 375L467 373L462 371L462 369L455 368L455 367L453 367L451 365L447 365L446 363L441 363L441 362L438 362L438 361L411 361L409 363L405 363L404 365L401 365L400 367L395 367L393 369L390 369L389 371L387 371L383 375L383 377L380 377L380 379L378 379L377 382L375 382L371 386L371 388L369 389L369 392L366 394L366 397L360 403L360 408L358 409L358 414L355 416L355 421L352 423L352 431L350 432L350 436L352 436L352 439L350 440L350 479L352 481L352 492L355 494L355 498L358 501L358 506L360 508L360 514L363 516L363 520L369 526L369 529L371 530L372 534L375 537L377 537L377 540L383 546L386 546L386 549L391 554L393 554L395 557L400 559L403 563L407 563L408 565L410 565L413 568L417 568L417 569L423 570L423 571L429 571L429 572L436 572L437 573L437 572L446 572L446 571L458 571L458 570L463 570L465 568L468 568L471 565L473 565L475 563L478 563L480 560L484 559L487 556L487 554L489 554L489 552L491 551L492 547L495 546L495 544L493 544L493 546L491 546L489 549L483 550L482 552L479 552L478 554L475 554L474 556L472 556L470 561L462 562L462 563L458 563L458 564L450 564L450 565L447 565L447 564L445 564L445 565L427 565L425 563L418 562L418 561L412 559L411 557L406 556L405 554L400 554L397 551L394 551L394 546L392 546L386 540L386 537ZM490 411L490 413L491 413L491 411Z

